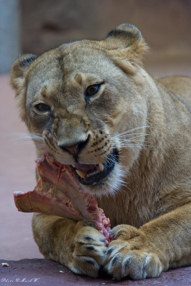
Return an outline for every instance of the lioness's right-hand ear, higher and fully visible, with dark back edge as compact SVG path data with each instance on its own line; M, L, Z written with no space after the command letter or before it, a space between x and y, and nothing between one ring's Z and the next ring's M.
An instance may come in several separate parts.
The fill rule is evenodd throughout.
M108 53L118 65L128 66L133 72L133 66L142 64L142 55L149 51L141 32L128 23L121 24L108 33L105 38ZM128 72L129 72L129 68Z

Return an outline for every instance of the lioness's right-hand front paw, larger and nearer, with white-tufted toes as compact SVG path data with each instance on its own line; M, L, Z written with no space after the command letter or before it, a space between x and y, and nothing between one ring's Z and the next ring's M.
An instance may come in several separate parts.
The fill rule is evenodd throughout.
M125 276L132 279L158 277L162 271L159 257L149 251L147 243L139 236L139 231L129 226L119 226L113 230L116 240L107 250L104 268L117 280Z

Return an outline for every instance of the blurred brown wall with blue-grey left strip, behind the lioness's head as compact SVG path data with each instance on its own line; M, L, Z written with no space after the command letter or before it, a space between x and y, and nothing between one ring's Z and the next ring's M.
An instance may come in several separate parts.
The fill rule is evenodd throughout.
M152 49L145 60L149 72L164 64L167 74L188 69L190 0L0 0L0 72L9 72L19 54L103 39L125 22L138 27Z

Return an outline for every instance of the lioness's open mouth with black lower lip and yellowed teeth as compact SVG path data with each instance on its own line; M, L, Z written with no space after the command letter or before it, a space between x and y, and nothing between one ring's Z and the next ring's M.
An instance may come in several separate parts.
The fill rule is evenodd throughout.
M101 164L80 164L72 166L75 170L77 180L83 185L94 185L107 177L113 170L115 163L119 161L119 152L117 149L109 156L107 162Z

